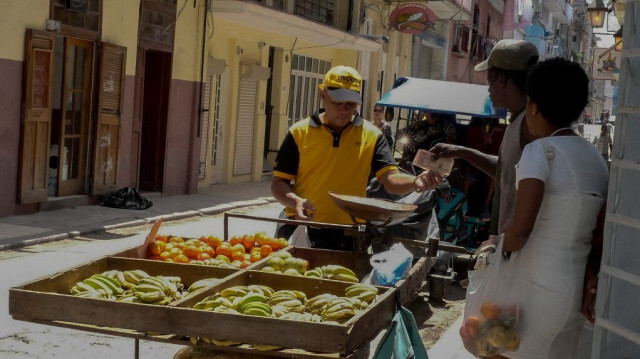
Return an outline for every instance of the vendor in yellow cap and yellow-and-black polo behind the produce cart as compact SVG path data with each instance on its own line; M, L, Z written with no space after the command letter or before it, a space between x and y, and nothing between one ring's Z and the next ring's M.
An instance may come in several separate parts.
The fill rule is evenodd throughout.
M330 69L320 85L324 109L291 126L285 136L273 166L271 193L286 207L288 218L353 224L329 191L365 197L371 173L394 194L435 187L426 172L400 173L380 129L357 114L361 85L355 69ZM353 238L342 230L308 227L308 235L314 248L353 250Z

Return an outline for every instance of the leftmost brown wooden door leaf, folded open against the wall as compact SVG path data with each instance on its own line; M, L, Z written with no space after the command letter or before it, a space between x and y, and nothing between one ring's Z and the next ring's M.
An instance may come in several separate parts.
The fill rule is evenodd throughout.
M55 35L27 29L18 202L47 200Z

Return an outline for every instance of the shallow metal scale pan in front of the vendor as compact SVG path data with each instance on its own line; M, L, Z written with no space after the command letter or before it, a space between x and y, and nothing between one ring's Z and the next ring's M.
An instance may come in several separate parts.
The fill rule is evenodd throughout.
M418 208L415 204L396 203L385 199L367 198L329 192L329 195L343 211L354 219L367 222L383 222L383 225L408 217Z

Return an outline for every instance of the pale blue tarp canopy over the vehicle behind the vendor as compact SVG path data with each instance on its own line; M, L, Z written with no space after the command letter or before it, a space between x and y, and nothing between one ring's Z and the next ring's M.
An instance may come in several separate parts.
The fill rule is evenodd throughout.
M426 112L505 117L489 99L489 86L462 82L400 77L378 101L379 105Z

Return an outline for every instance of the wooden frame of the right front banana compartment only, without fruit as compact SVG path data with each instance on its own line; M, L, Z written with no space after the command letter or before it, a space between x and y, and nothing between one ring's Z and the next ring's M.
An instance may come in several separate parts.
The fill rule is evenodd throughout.
M322 353L352 353L387 328L397 308L395 290L378 287L378 301L347 323L309 323L190 309L206 296L238 285L261 284L274 290L295 289L308 298L322 293L344 296L353 283L297 277L262 271L243 271L212 288L189 297L172 309L171 320L178 335L209 337L241 343L277 345ZM206 323L206 325L203 325Z

